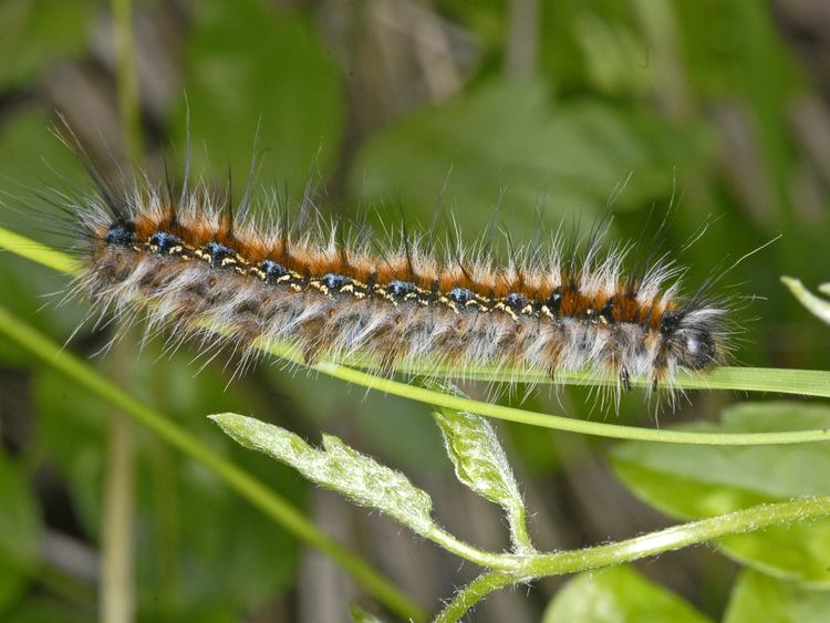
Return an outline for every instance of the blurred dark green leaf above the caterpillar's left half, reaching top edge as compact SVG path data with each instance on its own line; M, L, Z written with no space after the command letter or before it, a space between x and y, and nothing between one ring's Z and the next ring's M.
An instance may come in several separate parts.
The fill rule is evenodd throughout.
M197 2L186 58L187 100L170 118L184 146L187 104L195 172L225 179L231 167L242 186L258 127L257 155L273 172L267 181L293 197L314 166L325 172L333 163L345 97L332 56L299 11L257 0Z

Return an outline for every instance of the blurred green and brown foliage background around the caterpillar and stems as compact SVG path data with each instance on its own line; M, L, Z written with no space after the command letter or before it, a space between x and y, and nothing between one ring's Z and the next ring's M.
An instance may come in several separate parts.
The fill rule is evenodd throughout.
M830 277L830 4L822 0L142 0L134 12L144 166L180 176L187 113L194 170L234 172L241 191L255 135L257 184L298 200L309 179L323 212L428 224L436 206L468 240L498 208L517 242L538 214L591 222L611 197L613 239L646 245L652 208L674 205L665 247L691 288L713 267L769 241L724 281L754 297L738 312L737 360L827 367L827 331L779 282ZM0 3L0 189L31 195L87 184L52 135L65 115L105 169L125 162L107 3ZM65 247L32 214L2 225ZM86 305L56 307L66 278L0 255L0 300L59 343ZM68 347L93 356L108 334ZM135 339L135 335L133 335ZM131 355L137 347L131 346ZM309 486L237 448L205 415L232 411L312 443L321 432L405 471L453 532L509 544L498 509L454 478L427 407L309 378L263 362L226 388L222 362L198 372L195 349L163 343L127 357L124 384L210 447L251 469L314 523L365 555L427 611L475 578L471 564L393 521ZM230 357L230 355L229 355ZM231 361L228 359L225 363ZM230 363L232 366L232 362ZM476 392L471 387L473 393ZM660 424L715 419L743 396L691 395ZM620 415L583 393L531 393L528 408L654 425L642 397ZM97 612L110 407L0 342L0 619L86 621ZM621 539L668 520L618 484L604 442L498 425L540 548ZM136 428L133 520L142 621L336 621L356 601L338 567L232 495L212 474ZM709 549L642 565L717 619L737 565ZM535 621L562 584L491 596L480 621Z

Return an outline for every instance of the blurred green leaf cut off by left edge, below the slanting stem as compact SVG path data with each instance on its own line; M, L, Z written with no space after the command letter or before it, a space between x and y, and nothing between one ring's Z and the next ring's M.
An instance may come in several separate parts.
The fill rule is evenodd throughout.
M38 560L40 531L25 476L0 451L0 610L23 592Z

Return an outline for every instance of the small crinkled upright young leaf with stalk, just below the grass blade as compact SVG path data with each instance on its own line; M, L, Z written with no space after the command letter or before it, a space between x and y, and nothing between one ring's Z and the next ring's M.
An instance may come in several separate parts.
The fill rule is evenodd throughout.
M455 386L435 383L430 388L464 396ZM466 411L439 408L433 417L444 435L447 455L458 480L483 498L501 506L510 523L517 551L533 550L525 526L525 502L513 478L496 429L480 415Z

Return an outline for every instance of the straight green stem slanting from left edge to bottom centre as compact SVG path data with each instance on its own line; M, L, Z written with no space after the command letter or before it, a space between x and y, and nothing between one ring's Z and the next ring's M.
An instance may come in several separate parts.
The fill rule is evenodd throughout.
M44 363L69 376L80 387L121 408L183 454L203 464L234 491L277 523L280 523L286 530L308 544L320 549L341 564L391 612L403 619L415 621L425 619L424 612L398 591L390 580L381 575L359 555L321 532L295 507L271 491L261 480L209 449L163 414L123 392L87 364L10 314L2 305L0 305L0 334L4 334Z

